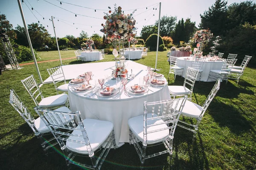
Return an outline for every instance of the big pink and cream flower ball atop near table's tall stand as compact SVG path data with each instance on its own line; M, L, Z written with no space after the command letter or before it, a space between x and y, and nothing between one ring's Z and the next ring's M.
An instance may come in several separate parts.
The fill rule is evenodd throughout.
M132 17L136 10L132 14L124 14L120 6L118 8L116 4L114 6L113 12L108 7L110 14L104 12L105 16L103 18L106 20L106 23L101 24L103 29L100 31L106 34L106 43L111 43L115 39L131 41L136 34L134 26L136 21Z

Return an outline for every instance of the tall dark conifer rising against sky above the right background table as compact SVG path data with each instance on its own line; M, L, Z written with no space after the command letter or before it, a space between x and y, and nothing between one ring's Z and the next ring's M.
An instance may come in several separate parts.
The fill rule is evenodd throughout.
M200 17L201 29L210 29L214 35L225 35L228 25L227 1L216 0L208 11L205 11L203 15L200 14Z

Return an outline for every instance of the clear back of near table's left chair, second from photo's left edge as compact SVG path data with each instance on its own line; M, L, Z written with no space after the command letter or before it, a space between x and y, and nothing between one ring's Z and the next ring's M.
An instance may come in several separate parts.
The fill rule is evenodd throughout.
M41 99L44 98L37 82L35 81L34 75L29 76L28 78L25 78L21 81L23 86L26 88L26 90L29 92L29 95L32 97L33 101L35 102L35 105L38 106L38 97L41 97Z

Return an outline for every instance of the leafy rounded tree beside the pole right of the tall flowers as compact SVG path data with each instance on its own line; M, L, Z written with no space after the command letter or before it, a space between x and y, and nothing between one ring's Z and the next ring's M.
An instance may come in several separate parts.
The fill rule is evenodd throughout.
M160 19L160 36L171 36L175 29L177 17L163 16ZM155 26L158 27L158 20L155 22Z

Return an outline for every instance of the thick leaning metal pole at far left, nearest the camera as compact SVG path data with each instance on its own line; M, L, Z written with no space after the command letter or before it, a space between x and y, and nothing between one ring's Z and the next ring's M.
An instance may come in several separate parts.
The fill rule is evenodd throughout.
M25 17L24 17L24 14L23 14L22 7L21 7L21 3L20 3L20 0L17 0L17 1L18 1L18 5L19 5L19 8L20 8L20 15L22 17L22 21L23 21L23 25L24 25L24 28L25 28L26 36L27 36L27 39L29 41L29 47L30 47L30 50L31 50L31 53L32 53L34 63L35 63L35 69L38 73L38 77L39 77L39 80L40 80L41 84L43 84L43 80L41 78L41 74L39 72L38 65L37 65L37 62L36 62L36 59L35 59L35 54L34 54L34 50L33 50L33 47L32 47L32 43L31 43L31 40L30 40L30 37L29 37L28 28L26 26L26 21L25 21Z

